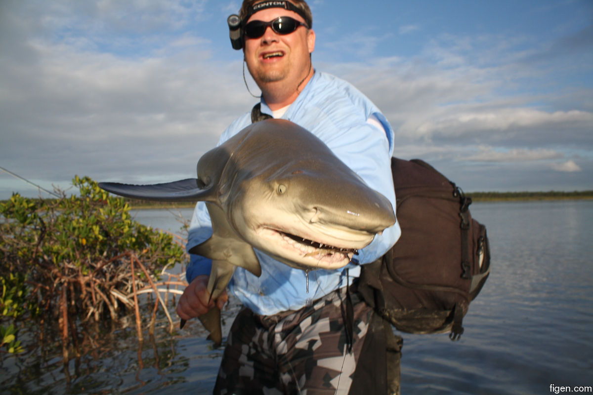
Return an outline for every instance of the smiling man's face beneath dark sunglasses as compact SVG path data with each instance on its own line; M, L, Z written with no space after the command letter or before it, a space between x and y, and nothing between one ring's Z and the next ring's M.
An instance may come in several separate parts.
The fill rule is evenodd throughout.
M278 17L291 17L305 23L296 12L283 8L263 9L251 15L247 22L269 22ZM263 85L267 87L275 85L269 85L269 83L278 83L279 87L285 88L294 84L296 87L308 75L309 54L314 48L313 30L300 26L290 34L281 35L273 31L272 27L268 27L262 37L246 37L244 56L247 68L260 88Z

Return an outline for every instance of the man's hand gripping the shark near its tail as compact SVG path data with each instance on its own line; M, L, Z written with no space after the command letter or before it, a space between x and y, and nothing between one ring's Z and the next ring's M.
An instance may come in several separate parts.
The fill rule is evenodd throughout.
M187 285L183 291L183 295L179 298L177 304L177 315L183 320L189 320L193 317L201 316L202 314L208 313L208 310L217 306L222 310L225 303L228 301L227 291L222 291L218 299L210 299L210 293L208 292L208 275L199 275Z

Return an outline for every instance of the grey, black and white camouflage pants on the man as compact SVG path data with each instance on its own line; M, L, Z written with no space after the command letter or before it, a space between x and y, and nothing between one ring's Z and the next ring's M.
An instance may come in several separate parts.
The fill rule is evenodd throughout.
M342 288L311 307L275 316L241 310L228 336L214 393L349 393L369 323L378 316L358 294L351 294L354 326L352 352L348 352L345 296ZM383 333L382 320L379 324ZM385 342L382 346L385 349ZM374 364L381 365L381 358Z

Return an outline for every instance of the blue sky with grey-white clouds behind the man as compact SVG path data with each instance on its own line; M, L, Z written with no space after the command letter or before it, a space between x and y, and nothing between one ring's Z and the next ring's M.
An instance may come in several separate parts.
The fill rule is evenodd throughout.
M593 190L593 1L311 0L316 70L351 82L420 158L472 191ZM237 0L0 0L0 166L195 177L257 102ZM253 80L251 91L259 95ZM0 170L0 200L48 195Z

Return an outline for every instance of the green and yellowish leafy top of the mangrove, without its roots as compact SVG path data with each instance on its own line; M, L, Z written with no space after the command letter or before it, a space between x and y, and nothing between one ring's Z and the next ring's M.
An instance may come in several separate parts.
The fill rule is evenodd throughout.
M51 257L52 264L71 262L85 270L98 257L146 248L156 254L151 259L160 266L171 258L181 259L183 248L173 244L173 236L132 221L130 207L122 198L111 197L88 177L75 176L72 184L78 187L79 196L33 201L15 194L0 204L0 214L8 219L5 233L27 246L12 251L18 258L26 261L44 255ZM35 242L38 251L33 248Z

